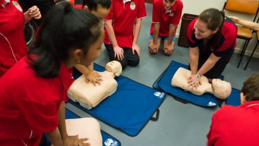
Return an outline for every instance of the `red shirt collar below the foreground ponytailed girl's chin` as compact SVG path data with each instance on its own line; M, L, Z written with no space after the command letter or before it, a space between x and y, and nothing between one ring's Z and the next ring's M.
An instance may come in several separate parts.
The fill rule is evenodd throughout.
M71 84L73 83L74 79L72 77L72 70L73 68L71 69L68 69L64 63L61 63L60 65L60 73L59 73L59 77L62 81L62 84L64 86L64 88L66 90L69 89L69 87L71 86Z

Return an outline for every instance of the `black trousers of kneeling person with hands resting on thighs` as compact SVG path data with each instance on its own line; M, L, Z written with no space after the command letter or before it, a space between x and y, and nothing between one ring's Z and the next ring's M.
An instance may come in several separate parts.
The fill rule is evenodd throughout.
M133 54L132 49L131 48L126 48L126 47L121 47L123 49L123 56L124 59L123 60L118 60L117 56L116 59L114 57L114 50L113 50L113 46L109 45L109 44L104 44L107 51L108 51L108 55L110 58L110 61L118 61L120 62L122 69L124 69L127 65L131 65L131 66L137 66L140 62L140 57L138 56L138 53L135 51L135 53Z

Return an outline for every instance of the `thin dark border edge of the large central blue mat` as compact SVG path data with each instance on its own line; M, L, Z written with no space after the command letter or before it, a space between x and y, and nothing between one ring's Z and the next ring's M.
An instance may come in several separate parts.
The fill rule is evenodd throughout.
M99 66L99 67L103 67L103 66L98 65L98 64L96 64L96 63L94 63L94 65L97 65L97 66ZM104 68L104 67L103 67L103 68ZM120 75L120 76L122 76L122 75ZM122 77L125 77L125 76L122 76ZM133 79L131 79L131 78L128 78L128 77L125 77L125 78L130 79L130 80L132 80L132 81L135 81L135 80L133 80ZM137 83L139 83L139 84L142 84L142 83L140 83L140 82L138 82L138 81L135 81L135 82L137 82ZM145 85L145 84L142 84L142 85L153 89L152 87L147 86L147 85ZM154 90L156 90L156 89L154 89ZM161 91L161 90L158 90L158 91ZM135 135L128 134L128 133L126 133L124 130L122 130L122 129L120 129L120 128L117 128L117 127L115 127L114 125L111 125L111 124L109 124L109 123L103 121L103 120L100 119L100 118L96 118L93 114L88 113L88 112L87 112L87 113L88 113L89 115L93 116L94 118L96 118L96 119L102 121L103 123L105 123L105 124L107 124L107 125L109 125L109 126L115 128L115 129L117 129L117 130L119 130L119 131L125 133L126 135L135 137L135 136L137 136L137 135L143 130L143 128L147 125L147 123L148 123L148 122L151 120L151 118L153 117L154 113L157 111L157 109L160 107L160 105L164 102L164 100L165 100L165 98L166 98L166 96L167 96L167 93L164 92L164 91L162 91L162 92L165 93L165 96L164 96L163 100L162 100L161 103L157 106L157 108L153 111L153 113L151 114L149 120L147 120L147 122L141 127L141 129L140 129L140 130L138 131L138 133L136 133ZM72 105L78 107L78 108L81 109L82 111L84 111L84 110L87 111L87 109L85 109L84 107L82 107L81 105L79 105L79 103L76 103L76 102L74 102L74 101L72 101L72 100L70 100L69 103L71 103ZM86 111L84 111L84 112L86 112Z

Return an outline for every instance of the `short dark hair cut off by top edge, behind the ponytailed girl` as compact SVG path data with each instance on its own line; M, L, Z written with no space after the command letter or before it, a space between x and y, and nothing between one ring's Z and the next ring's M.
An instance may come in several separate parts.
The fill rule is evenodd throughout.
M83 0L83 7L87 6L89 11L96 11L98 4L101 5L103 8L110 9L111 0Z

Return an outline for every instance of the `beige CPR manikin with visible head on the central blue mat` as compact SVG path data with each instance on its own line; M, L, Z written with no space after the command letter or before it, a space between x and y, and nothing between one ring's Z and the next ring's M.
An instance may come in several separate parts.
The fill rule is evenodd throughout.
M114 77L119 76L121 71L122 67L119 62L107 63L106 70L99 72L103 81L98 86L94 86L92 83L87 84L85 76L81 75L71 85L68 97L74 102L79 102L86 109L91 109L116 91L118 83Z

